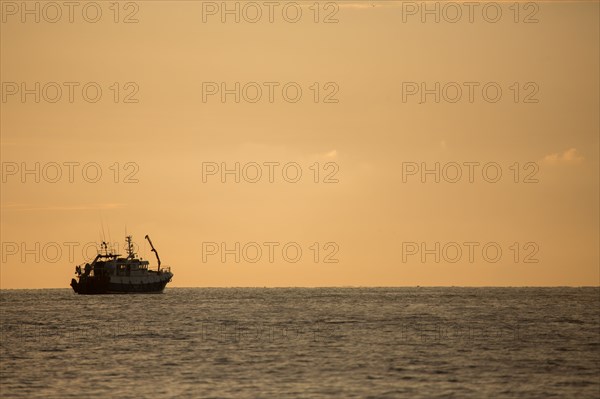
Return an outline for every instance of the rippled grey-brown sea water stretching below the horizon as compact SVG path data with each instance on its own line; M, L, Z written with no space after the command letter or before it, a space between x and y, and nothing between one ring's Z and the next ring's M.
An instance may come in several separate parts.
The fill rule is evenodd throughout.
M1 398L598 398L600 288L0 292Z

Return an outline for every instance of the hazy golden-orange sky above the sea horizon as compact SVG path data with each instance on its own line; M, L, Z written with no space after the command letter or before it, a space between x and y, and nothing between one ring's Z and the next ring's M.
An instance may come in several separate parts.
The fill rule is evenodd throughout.
M600 284L597 1L22 4L2 289Z

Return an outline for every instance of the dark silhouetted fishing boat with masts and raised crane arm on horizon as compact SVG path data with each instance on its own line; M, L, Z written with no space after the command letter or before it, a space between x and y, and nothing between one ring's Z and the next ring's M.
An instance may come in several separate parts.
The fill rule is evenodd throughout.
M127 241L127 256L109 252L106 242L92 261L75 267L76 278L71 279L73 291L80 295L161 293L173 278L170 267L161 267L158 252L146 235L152 252L158 261L157 270L150 269L150 262L137 258L132 237Z

